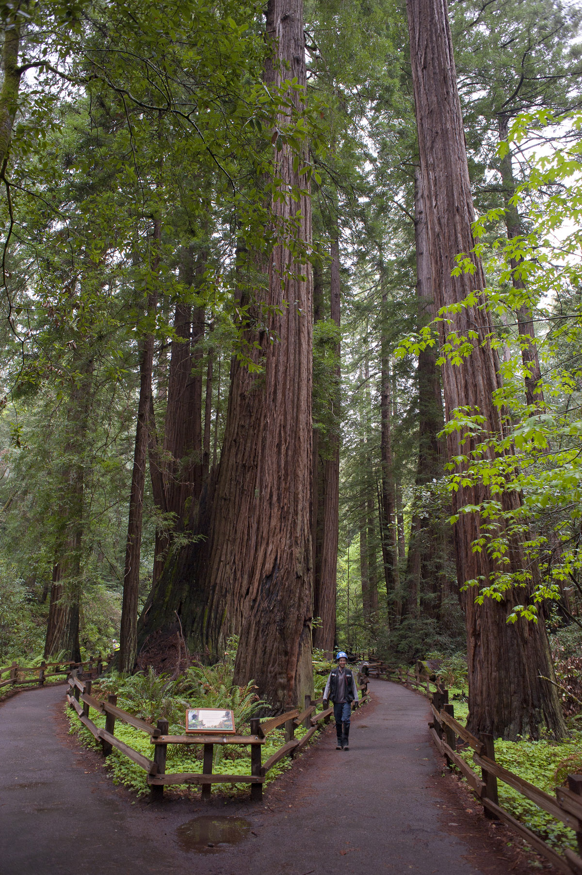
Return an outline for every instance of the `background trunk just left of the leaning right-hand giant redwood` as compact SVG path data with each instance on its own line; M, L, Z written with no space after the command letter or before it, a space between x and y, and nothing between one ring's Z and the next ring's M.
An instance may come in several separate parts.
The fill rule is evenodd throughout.
M426 209L422 196L422 178L419 168L414 172L414 238L416 243L416 294L419 328L435 316L431 288L431 265L426 238ZM445 448L438 434L444 427L442 395L440 391L437 355L428 346L419 352L417 376L419 381L419 462L415 483L417 487L440 479L444 472ZM443 560L447 553L447 535L442 525L421 513L415 504L412 514L411 535L406 557L408 585L407 611L416 616L419 610L429 617L439 615L442 590L445 585ZM451 545L452 552L452 545Z

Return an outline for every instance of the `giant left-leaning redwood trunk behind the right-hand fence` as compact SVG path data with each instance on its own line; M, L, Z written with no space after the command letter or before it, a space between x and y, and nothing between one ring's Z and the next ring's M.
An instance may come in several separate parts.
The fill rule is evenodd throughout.
M468 179L461 106L456 87L453 48L446 0L407 0L411 42L412 80L419 130L420 171L426 207L426 229L431 261L432 293L437 309L464 300L473 290L484 289L482 265L475 258L475 274L451 276L454 256L473 248L471 222L473 202ZM459 332L472 340L472 352L460 366L448 360L442 366L447 419L454 409L470 405L486 417L484 428L494 436L502 431L501 413L492 394L501 386L498 361L488 335L492 331L486 308L460 308L448 314L445 331ZM458 432L447 436L448 458L470 452L473 441L461 445ZM488 486L478 483L453 493L454 511L466 504L481 504L490 498ZM506 510L519 506L514 492L502 495ZM487 549L474 552L480 536L478 514L461 514L454 527L459 584L478 580L488 584L502 570ZM504 566L503 566L504 567ZM526 568L522 544L513 537L509 570ZM537 569L530 571L537 576ZM534 580L535 582L535 580ZM475 603L475 589L464 598L468 637L469 718L471 732L491 732L516 739L518 734L538 736L542 726L556 737L565 732L553 678L550 648L544 621L506 622L509 611L527 601L531 585L505 591L501 601L485 598Z

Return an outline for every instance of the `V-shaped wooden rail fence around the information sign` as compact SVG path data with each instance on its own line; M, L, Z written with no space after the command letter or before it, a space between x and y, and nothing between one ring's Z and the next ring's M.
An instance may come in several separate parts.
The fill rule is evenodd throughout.
M362 679L358 689L362 692L362 700L368 694L368 683ZM268 772L285 757L295 757L313 738L320 724L329 723L333 714L333 708L322 708L322 698L312 699L305 697L305 707L302 711L295 708L286 711L278 717L260 721L260 718L251 718L250 733L248 735L170 735L169 724L165 719L157 721L156 726L146 723L145 720L136 718L117 707L117 697L110 694L107 702L91 695L91 679L82 680L76 670L73 670L67 682L66 700L71 708L77 712L80 722L87 727L95 739L100 741L101 750L105 756L111 753L115 747L129 760L135 762L147 774L147 781L152 798L161 800L163 788L171 784L199 784L202 789L202 798L209 799L212 784L250 784L251 799L260 802L263 797L263 784ZM359 705L360 703L357 703ZM99 714L105 715L105 728L96 726L89 717L89 709L93 708ZM318 711L318 709L321 709ZM149 734L150 743L154 746L153 758L138 753L129 747L121 739L115 738L115 721L121 720L135 729ZM301 739L295 739L294 733L299 726L303 725L307 732ZM284 726L285 742L265 762L262 760L262 748L266 743L267 736ZM202 772L166 772L166 757L168 745L201 745L204 747ZM251 748L251 774L213 774L212 764L214 760L214 746L240 745Z

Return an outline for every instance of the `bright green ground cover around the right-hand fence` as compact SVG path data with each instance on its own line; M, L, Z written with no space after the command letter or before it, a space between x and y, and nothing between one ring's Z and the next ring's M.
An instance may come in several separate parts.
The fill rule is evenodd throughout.
M454 705L454 717L462 725L466 725L468 703L459 700L460 696L460 688L453 687L449 690L449 702ZM464 748L459 753L477 774L481 774L481 769L473 762L473 750L470 747ZM571 738L560 742L551 739L538 741L495 739L495 760L500 766L519 775L524 781L530 781L530 784L555 796L556 788L565 785L567 774L582 773L582 732L574 730ZM499 804L509 811L509 814L557 851L569 847L578 853L578 843L573 830L542 809L538 809L534 802L530 802L502 781L497 781L497 787Z

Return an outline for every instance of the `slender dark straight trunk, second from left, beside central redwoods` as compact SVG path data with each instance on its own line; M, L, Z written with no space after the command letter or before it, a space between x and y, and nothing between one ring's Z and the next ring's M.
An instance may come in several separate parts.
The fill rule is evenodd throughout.
M152 260L155 286L148 294L147 304L149 321L156 318L156 274L160 263L159 243L161 235L162 223L158 219L154 226L155 252ZM142 336L140 343L140 395L137 402L137 421L135 423L134 466L129 493L128 538L125 548L119 638L119 670L124 672L134 670L137 658L137 610L142 553L143 491L148 457L149 413L152 408L151 378L153 366L154 335L150 332Z

